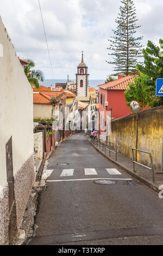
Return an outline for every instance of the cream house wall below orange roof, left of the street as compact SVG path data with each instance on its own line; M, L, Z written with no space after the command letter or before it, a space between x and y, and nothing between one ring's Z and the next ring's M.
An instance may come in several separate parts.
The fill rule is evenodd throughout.
M50 104L34 104L33 115L34 119L51 119L53 105Z

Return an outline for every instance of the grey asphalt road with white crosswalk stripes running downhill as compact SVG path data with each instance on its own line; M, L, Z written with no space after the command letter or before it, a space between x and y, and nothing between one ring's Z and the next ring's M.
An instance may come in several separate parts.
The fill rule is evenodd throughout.
M62 142L47 169L52 174L29 245L163 245L163 200L106 160L83 133Z

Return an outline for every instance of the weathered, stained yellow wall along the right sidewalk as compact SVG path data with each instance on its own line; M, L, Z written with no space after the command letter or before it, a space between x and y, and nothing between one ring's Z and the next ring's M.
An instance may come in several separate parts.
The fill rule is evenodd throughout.
M137 148L152 154L155 170L161 168L162 120L163 106L147 109L138 114L138 144ZM111 122L109 140L115 142L117 137L118 150L123 155L132 158L131 148L136 147L136 114L127 115ZM137 154L137 160L151 167L149 155Z

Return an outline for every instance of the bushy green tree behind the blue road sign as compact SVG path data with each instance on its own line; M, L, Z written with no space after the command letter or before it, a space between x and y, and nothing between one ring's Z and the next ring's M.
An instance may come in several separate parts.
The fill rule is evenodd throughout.
M160 39L160 47L148 41L146 49L143 49L144 65L137 65L141 72L134 83L129 83L129 89L125 92L127 105L132 100L140 103L141 109L145 106L156 107L163 105L163 98L156 96L156 79L163 77L163 40Z

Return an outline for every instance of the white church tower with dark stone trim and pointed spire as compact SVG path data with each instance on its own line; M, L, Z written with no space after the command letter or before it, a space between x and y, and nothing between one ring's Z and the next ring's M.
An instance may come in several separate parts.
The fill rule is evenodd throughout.
M77 84L77 96L87 97L89 96L89 74L87 74L87 66L84 63L83 52L82 52L82 62L78 65L78 73L76 74L76 84Z

